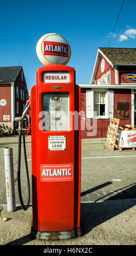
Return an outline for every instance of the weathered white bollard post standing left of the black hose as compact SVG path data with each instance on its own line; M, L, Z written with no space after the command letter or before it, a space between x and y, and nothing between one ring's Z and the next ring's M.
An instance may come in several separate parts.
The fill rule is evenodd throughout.
M12 148L4 148L4 161L5 161L5 183L6 183L6 191L7 191L7 210L9 212L12 212L16 210Z

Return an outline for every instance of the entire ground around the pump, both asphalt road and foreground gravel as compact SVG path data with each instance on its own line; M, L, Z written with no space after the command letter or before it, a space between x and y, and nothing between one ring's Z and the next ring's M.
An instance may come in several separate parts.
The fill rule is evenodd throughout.
M82 236L69 240L42 241L31 239L32 202L23 211L15 182L16 211L7 212L5 191L4 147L12 147L14 178L17 176L18 136L0 138L0 245L135 245L136 243L136 151L104 149L106 138L82 139L81 228ZM31 136L26 138L31 188ZM27 202L26 175L23 159L22 193Z

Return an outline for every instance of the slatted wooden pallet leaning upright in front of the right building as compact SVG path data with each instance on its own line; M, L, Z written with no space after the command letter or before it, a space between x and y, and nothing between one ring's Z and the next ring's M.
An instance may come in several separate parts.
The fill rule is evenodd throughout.
M114 150L114 148L118 148L118 145L116 145L116 135L119 128L119 121L120 119L117 118L110 118L109 119L109 126L107 130L107 141L105 142L105 148L108 148L109 150Z

